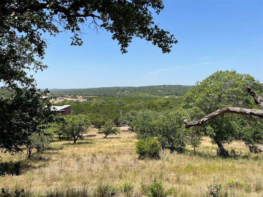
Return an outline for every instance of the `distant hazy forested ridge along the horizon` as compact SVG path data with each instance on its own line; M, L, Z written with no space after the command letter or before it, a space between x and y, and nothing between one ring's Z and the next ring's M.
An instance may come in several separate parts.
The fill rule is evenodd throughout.
M98 87L78 89L49 89L52 95L81 95L81 96L126 96L131 94L146 93L156 96L182 96L193 86L187 85L155 85L155 86L127 86L127 87Z

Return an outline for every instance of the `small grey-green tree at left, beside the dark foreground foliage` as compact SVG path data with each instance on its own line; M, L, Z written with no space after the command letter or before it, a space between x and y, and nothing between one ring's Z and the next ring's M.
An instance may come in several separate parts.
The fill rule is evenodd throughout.
M45 136L43 133L32 133L31 136L28 137L28 141L26 143L28 158L31 158L33 148L37 148L37 152L39 152L39 150L42 148L42 144L47 145L49 143L49 136Z

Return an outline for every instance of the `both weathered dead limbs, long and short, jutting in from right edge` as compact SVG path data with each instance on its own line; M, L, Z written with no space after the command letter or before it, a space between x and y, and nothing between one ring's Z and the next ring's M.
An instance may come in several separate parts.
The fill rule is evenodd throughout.
M192 121L192 122L188 122L186 119L184 120L184 127L189 128L189 127L193 127L193 126L201 126L203 125L206 121L209 121L223 113L237 113L237 114L241 114L241 115L251 115L251 116L257 116L260 118L263 118L263 99L261 96L259 96L258 94L256 94L256 92L254 92L253 90L251 90L250 86L245 85L245 89L247 92L249 92L249 94L254 98L255 103L257 104L257 106L259 106L260 110L252 110L252 109L245 109L245 108L238 108L238 107L222 107L210 114L208 114L207 116L205 116L204 118L202 118L199 121Z

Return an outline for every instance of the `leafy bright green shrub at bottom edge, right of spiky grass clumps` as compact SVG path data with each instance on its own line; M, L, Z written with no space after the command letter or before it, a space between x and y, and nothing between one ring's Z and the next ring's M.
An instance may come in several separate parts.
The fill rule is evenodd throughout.
M173 193L173 188L166 189L161 180L158 181L156 176L153 179L153 184L142 185L144 195L148 197L167 197Z

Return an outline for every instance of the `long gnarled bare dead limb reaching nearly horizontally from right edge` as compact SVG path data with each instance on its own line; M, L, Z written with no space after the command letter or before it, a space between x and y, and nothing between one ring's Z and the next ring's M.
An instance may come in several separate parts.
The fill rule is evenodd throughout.
M193 121L189 122L185 119L184 120L184 127L189 128L193 126L201 126L203 125L206 121L211 120L217 116L220 116L223 113L238 113L241 115L251 115L251 116L257 116L260 118L263 118L263 110L250 110L250 109L245 109L245 108L239 108L239 107L222 107L204 118L202 118L199 121Z

